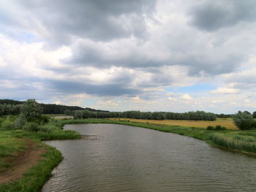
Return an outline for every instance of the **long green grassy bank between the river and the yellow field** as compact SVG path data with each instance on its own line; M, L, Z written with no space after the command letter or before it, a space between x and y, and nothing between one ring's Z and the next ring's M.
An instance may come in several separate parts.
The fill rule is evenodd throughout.
M157 131L164 131L174 134L181 134L188 137L201 139L210 144L225 147L230 150L238 150L241 152L256 153L256 130L240 131L240 130L207 130L206 128L186 127L186 126L170 126L164 124L132 122L130 120L120 119L82 119L82 120L61 120L63 124L75 123L114 123L128 126L138 126L143 128L151 128Z

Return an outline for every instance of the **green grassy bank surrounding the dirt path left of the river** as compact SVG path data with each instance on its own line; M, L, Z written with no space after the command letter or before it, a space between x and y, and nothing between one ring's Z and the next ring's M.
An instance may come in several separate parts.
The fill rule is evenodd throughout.
M15 118L13 118L14 120ZM51 121L39 126L37 131L26 130L0 130L0 177L10 169L16 169L23 155L28 153L26 141L31 141L37 147L34 150L44 149L42 157L31 169L28 169L23 177L15 179L14 182L2 183L1 191L40 191L42 185L51 176L51 171L62 160L61 153L54 147L45 145L42 141L53 139L79 139L80 134L76 131L62 129L63 124L59 121ZM42 149L41 149L42 150ZM27 159L29 161L29 159Z

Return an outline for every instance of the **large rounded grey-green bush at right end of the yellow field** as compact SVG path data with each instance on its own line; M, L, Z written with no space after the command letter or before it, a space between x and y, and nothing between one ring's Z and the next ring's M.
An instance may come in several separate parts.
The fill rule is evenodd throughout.
M254 125L253 116L247 112L238 111L233 116L233 120L235 125L241 130L251 129Z

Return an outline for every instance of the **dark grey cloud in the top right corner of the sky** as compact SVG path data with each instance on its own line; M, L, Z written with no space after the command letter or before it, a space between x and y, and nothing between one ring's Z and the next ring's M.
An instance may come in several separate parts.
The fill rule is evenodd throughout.
M256 20L255 0L200 1L190 9L191 23L205 31L234 26Z

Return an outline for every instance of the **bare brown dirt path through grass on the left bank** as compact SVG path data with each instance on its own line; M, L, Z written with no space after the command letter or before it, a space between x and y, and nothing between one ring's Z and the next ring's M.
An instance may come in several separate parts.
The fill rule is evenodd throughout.
M4 172L0 173L0 184L10 183L23 176L32 166L35 166L42 154L46 152L45 147L39 147L39 144L31 139L25 139L27 142L26 152L18 153L18 157L10 158L8 163L13 164Z

